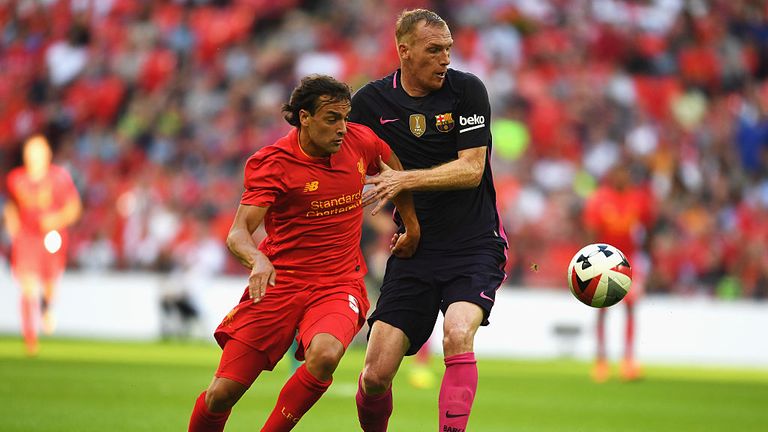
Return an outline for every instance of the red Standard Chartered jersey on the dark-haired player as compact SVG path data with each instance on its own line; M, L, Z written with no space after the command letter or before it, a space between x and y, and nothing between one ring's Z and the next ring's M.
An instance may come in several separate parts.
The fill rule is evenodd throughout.
M365 275L363 186L366 175L379 172L379 157L387 161L390 155L373 131L348 123L341 149L329 158L304 153L292 129L248 159L240 203L269 207L259 249L278 279L328 283Z

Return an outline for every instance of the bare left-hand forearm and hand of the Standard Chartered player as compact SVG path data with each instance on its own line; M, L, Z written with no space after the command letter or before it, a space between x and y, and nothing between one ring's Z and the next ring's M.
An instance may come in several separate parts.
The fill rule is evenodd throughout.
M254 303L267 293L267 284L275 286L275 268L253 240L253 232L264 221L269 207L240 204L227 235L227 247L240 262L251 269L248 291Z

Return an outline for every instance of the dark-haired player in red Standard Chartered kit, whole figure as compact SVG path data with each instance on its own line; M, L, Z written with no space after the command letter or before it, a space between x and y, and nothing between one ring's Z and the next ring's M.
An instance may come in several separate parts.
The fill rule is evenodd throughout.
M283 106L295 126L257 151L245 167L245 191L227 246L251 270L240 303L214 336L223 352L200 394L189 431L222 431L231 408L291 346L305 359L280 392L262 431L287 431L326 391L344 351L365 322L368 299L360 250L361 196L367 174L402 169L384 141L350 123L349 87L304 78ZM392 253L408 257L420 232L408 193L395 200L406 230ZM253 232L264 223L257 246Z

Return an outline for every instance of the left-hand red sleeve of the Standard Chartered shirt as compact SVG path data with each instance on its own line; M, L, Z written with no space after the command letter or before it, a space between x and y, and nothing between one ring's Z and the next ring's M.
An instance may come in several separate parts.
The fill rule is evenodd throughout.
M269 207L286 192L285 170L274 154L257 153L245 164L243 196L240 204Z

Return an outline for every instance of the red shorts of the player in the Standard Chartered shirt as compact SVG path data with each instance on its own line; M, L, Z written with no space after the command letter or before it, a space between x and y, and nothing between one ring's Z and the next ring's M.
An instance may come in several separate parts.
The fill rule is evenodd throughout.
M264 369L272 370L294 337L299 342L299 360L304 359L304 350L319 333L333 335L347 348L365 323L368 308L362 279L334 285L282 282L268 287L267 294L256 304L246 288L240 303L224 317L213 335L222 348L230 339L236 339L260 351L267 357ZM221 372L220 368L216 376ZM226 375L237 373L229 371Z

